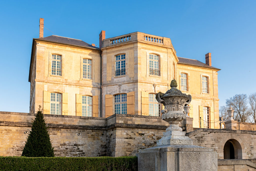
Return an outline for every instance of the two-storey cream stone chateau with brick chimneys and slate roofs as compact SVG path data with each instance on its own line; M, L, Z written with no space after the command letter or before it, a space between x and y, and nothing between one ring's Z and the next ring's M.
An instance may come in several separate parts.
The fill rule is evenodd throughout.
M134 32L113 38L99 35L95 44L67 37L33 39L29 82L30 113L109 117L113 114L161 116L155 99L170 89L191 94L189 116L194 127L219 128L218 71L205 63L177 57L169 38Z

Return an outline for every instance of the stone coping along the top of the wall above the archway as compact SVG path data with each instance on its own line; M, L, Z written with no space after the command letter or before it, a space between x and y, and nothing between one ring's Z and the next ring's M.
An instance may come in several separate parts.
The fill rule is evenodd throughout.
M192 137L196 134L199 134L200 132L256 134L256 131L199 128L195 131L187 133L186 136Z

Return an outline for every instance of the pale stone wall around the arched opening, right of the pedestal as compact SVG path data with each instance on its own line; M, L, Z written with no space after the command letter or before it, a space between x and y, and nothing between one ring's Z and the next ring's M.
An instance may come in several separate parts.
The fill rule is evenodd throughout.
M256 158L256 131L200 128L187 136L193 140L194 145L213 148L218 153L218 159L224 158L223 148L230 139L241 145L242 159Z

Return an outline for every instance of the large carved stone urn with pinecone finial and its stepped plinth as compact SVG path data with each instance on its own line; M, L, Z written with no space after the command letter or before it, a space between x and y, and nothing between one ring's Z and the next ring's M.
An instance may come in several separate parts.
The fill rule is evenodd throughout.
M158 92L156 94L156 100L164 105L162 119L170 124L166 132L163 133L164 136L157 141L157 145L193 144L193 141L185 136L186 132L179 127L180 121L183 121L188 114L190 107L187 105L191 102L192 97L177 89L176 80L172 80L170 87L171 89L166 93ZM184 106L187 106L185 111ZM187 115L187 117L189 116Z

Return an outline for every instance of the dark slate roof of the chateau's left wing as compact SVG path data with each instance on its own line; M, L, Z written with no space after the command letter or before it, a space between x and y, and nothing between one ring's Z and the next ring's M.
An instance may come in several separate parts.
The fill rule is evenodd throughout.
M94 47L82 40L72 39L72 38L68 38L68 37L52 35L52 36L48 36L48 37L37 38L34 40L44 40L47 42L59 43L59 44L64 44L64 45L80 46L80 47L86 47L86 48L90 48L90 49L98 49L99 50L99 48Z

